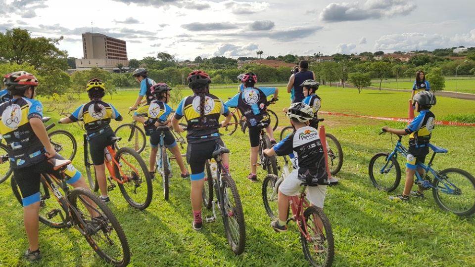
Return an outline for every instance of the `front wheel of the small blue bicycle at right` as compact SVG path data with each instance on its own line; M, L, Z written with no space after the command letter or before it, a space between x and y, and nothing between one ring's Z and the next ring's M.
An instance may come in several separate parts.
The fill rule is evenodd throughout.
M373 156L368 173L373 185L383 191L391 192L401 181L401 168L394 157L388 159L388 153L380 152Z

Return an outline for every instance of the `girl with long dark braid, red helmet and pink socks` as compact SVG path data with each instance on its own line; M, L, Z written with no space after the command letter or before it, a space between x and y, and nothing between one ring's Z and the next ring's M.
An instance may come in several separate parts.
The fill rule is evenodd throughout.
M211 79L203 71L193 71L188 77L188 87L193 90L192 95L186 96L178 105L175 116L172 118L173 129L180 133L183 129L178 125L185 116L187 128L187 162L191 168L191 208L193 210L193 229L200 230L202 192L204 186L204 166L207 159L212 158L213 151L218 145L225 146L218 132L219 127L228 125L232 114L223 101L209 93ZM219 117L223 114L226 119L219 124ZM223 166L229 170L229 155L223 154Z

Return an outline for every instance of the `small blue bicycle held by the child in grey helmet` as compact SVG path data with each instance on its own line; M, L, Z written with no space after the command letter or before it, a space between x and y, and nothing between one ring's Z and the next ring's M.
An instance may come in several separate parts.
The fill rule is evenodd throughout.
M385 133L384 131L380 134ZM395 190L401 180L401 168L397 161L397 155L407 157L408 150L401 143L402 135L398 135L398 141L394 150L390 153L380 152L373 156L368 166L370 180L373 185L386 192ZM392 135L391 135L391 142ZM448 168L443 171L432 169L435 154L447 153L448 150L427 144L433 154L427 165L417 162L417 168L424 169L424 174L415 174L415 183L425 190L432 190L435 203L446 211L458 216L469 216L475 213L475 178L468 172L456 168ZM430 174L430 176L429 176ZM433 177L433 178L431 178Z

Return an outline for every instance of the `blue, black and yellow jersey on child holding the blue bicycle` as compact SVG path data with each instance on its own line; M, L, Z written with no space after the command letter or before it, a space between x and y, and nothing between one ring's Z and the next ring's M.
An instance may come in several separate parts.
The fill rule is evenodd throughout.
M409 147L425 147L429 143L434 129L435 115L430 110L423 110L404 129L409 135Z

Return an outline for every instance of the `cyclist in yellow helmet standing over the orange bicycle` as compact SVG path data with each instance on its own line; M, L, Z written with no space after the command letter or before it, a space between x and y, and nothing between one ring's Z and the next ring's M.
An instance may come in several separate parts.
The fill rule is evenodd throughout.
M110 137L115 136L110 128L110 119L122 121L119 114L111 104L103 102L105 87L101 80L92 79L86 85L89 101L79 106L69 117L62 118L59 123L72 123L83 118L84 129L88 134L89 152L94 164L97 183L99 184L100 198L109 202L107 196L107 180L105 178L104 149L112 144Z

